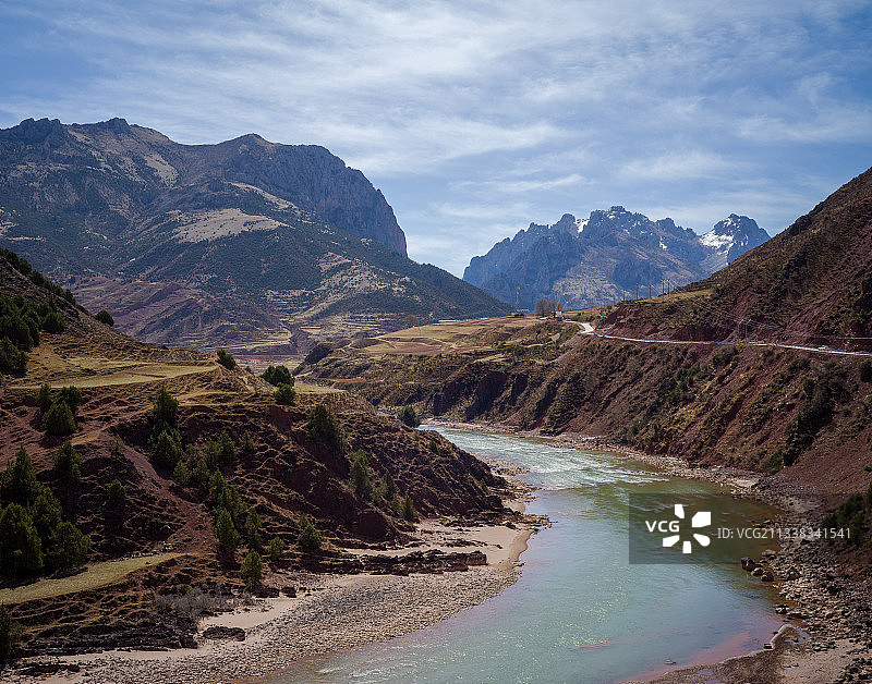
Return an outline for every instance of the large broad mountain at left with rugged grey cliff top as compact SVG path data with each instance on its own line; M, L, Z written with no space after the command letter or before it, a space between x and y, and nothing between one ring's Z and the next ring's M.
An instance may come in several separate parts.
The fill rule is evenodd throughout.
M0 131L0 244L144 340L296 353L506 306L405 256L379 191L318 146L180 145L123 119Z

